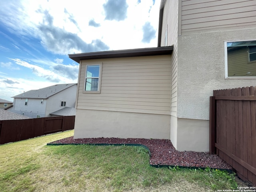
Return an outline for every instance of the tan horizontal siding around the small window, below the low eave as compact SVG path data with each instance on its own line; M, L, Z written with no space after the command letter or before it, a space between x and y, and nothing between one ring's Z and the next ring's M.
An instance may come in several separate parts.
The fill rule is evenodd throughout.
M82 61L79 109L170 114L171 56ZM102 64L100 94L84 92L86 64Z

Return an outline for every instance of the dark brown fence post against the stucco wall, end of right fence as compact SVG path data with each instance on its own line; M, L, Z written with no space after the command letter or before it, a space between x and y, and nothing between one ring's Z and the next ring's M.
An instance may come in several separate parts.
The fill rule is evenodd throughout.
M210 140L209 154L215 154L215 110L216 101L214 96L210 96Z

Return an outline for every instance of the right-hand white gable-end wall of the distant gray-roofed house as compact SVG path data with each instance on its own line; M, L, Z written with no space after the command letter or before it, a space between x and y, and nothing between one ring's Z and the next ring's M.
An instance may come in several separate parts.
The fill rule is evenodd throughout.
M49 117L51 116L50 113L64 108L64 106L60 106L61 101L66 101L66 107L75 107L76 89L77 85L75 84L73 86L70 86L69 88L62 90L61 92L50 96L47 100L45 116Z

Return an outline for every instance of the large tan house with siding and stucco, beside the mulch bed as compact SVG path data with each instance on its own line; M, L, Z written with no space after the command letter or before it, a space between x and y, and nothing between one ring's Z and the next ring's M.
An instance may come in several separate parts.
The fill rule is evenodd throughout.
M255 15L256 1L162 0L157 48L70 54L80 63L74 138L208 151L213 90L256 85Z

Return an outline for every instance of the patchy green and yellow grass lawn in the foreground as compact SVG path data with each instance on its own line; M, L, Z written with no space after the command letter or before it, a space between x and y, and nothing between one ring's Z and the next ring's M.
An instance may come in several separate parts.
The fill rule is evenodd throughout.
M154 168L142 147L46 146L73 134L0 145L0 192L185 192L238 186L234 174L220 170Z

